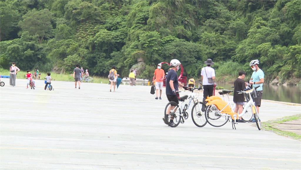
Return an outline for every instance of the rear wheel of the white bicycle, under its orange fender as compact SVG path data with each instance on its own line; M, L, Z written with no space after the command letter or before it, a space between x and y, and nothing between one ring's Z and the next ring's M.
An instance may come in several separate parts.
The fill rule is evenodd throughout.
M225 125L229 120L229 116L219 114L219 109L216 105L208 105L205 111L205 118L207 122L214 127Z

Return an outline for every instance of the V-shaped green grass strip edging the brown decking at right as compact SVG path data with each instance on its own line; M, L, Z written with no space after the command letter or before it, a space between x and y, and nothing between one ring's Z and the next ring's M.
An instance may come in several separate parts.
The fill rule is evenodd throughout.
M293 116L283 117L283 118L278 119L278 120L263 122L262 123L262 129L264 129L266 131L272 131L274 133L277 133L278 135L287 136L287 137L290 137L290 138L297 139L297 140L301 141L301 135L298 135L296 133L289 132L289 131L280 130L280 129L276 128L276 125L278 125L278 124L288 122L288 121L292 121L292 120L299 120L299 119L301 119L301 114L296 114L296 115L293 115Z

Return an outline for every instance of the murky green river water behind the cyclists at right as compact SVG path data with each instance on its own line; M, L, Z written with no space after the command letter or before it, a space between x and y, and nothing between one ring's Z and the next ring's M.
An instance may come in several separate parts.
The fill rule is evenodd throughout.
M224 89L232 90L230 83L218 83L217 86ZM233 95L233 93L232 93ZM262 99L275 100L279 102L291 102L301 104L301 87L298 86L272 86L269 84L263 85Z

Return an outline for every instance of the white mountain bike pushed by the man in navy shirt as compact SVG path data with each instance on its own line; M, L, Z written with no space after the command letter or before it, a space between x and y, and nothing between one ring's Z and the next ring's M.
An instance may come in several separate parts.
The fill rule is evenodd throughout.
M179 93L177 93L178 99L180 101L179 104L176 102L169 102L164 111L164 117L168 117L167 121L170 122L170 119L173 118L174 124L170 124L171 127L177 127L180 123L184 123L186 119L188 119L188 109L193 101L194 105L191 110L191 117L193 123L198 127L203 127L206 125L207 121L205 118L205 113L202 112L202 107L206 108L206 105L203 102L200 102L196 97L196 93L194 90L201 90L202 88L192 88L189 89L191 93L189 95L179 97ZM185 104L186 100L189 100L188 104ZM168 112L168 110L170 111ZM182 121L181 121L182 119Z

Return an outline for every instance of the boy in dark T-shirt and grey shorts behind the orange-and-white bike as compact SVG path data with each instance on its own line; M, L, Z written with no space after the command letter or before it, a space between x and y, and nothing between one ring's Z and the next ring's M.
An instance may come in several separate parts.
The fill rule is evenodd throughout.
M244 106L244 94L238 94L237 91L245 90L246 84L244 82L244 78L246 76L246 72L239 71L238 78L234 81L234 95L233 95L233 102L235 103L235 113L242 113L243 106ZM242 120L241 117L237 120L237 122L245 123L246 121Z

